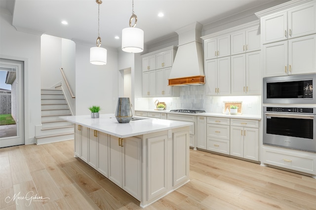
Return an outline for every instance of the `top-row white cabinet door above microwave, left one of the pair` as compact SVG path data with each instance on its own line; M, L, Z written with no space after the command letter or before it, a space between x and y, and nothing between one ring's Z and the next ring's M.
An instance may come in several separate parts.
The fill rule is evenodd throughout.
M261 19L262 43L287 39L287 12L279 12Z

